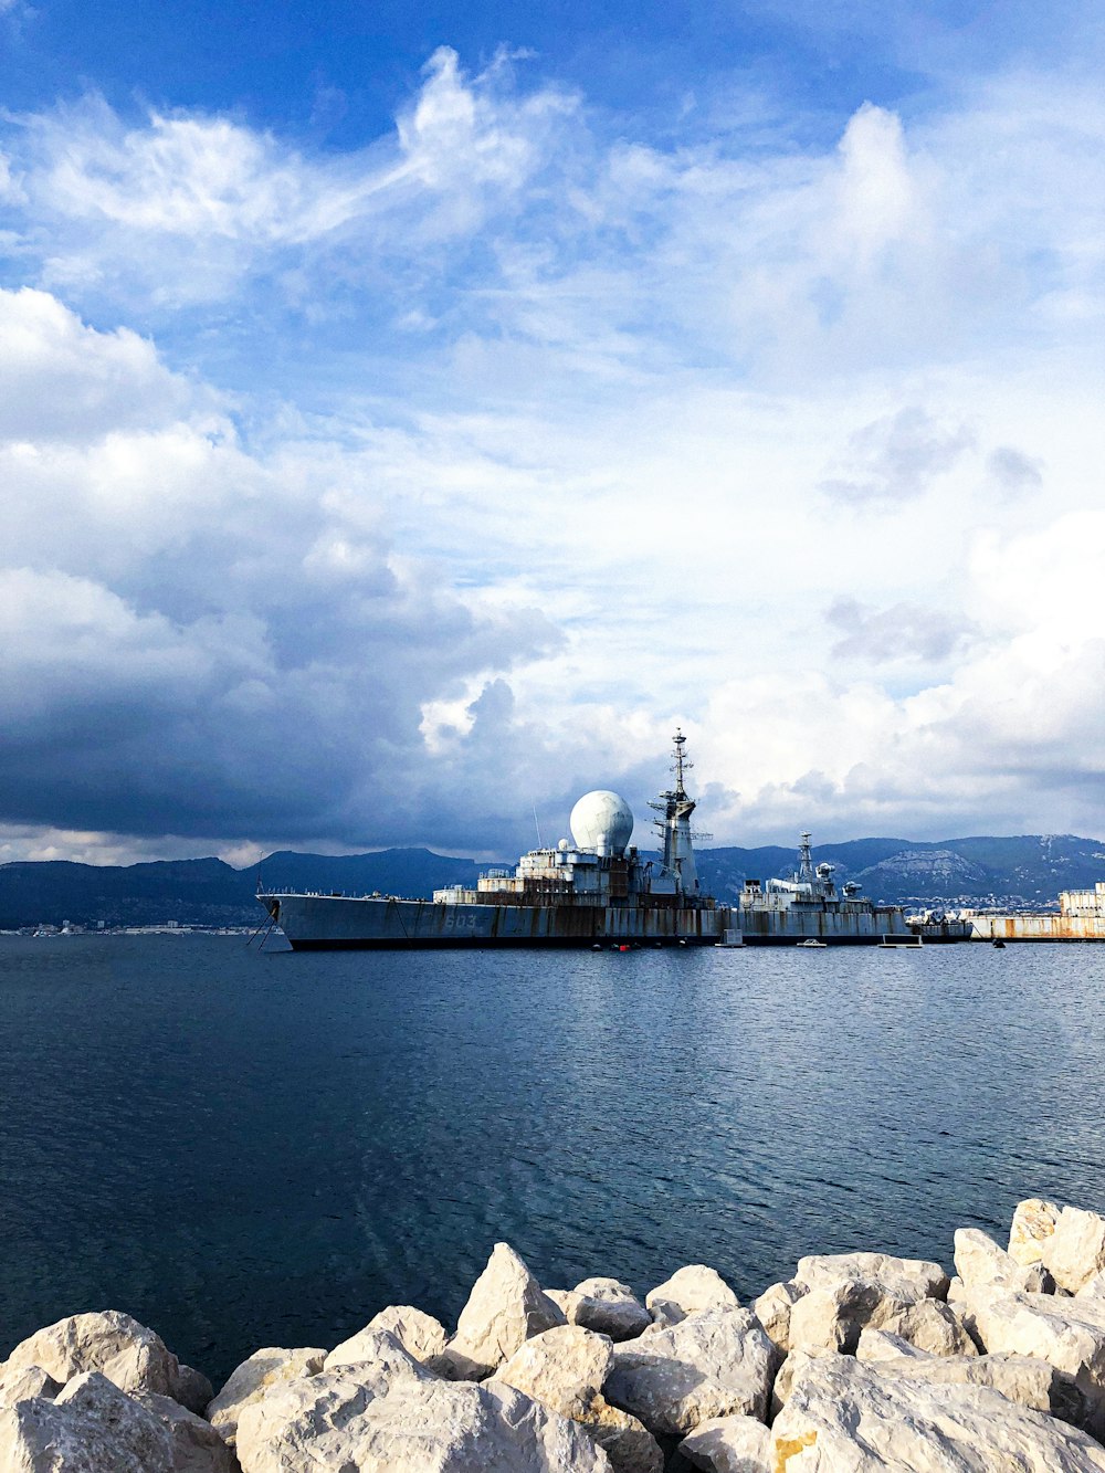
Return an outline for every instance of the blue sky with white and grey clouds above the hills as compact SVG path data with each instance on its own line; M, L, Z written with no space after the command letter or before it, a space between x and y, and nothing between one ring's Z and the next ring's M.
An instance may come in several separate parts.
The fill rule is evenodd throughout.
M1105 835L1096 0L0 0L0 862Z

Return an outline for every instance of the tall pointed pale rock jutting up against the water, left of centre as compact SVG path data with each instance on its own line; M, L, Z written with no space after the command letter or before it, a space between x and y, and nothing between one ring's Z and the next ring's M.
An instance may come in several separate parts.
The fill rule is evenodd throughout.
M532 1335L567 1324L560 1308L508 1243L495 1243L488 1267L473 1284L443 1360L452 1374L488 1376Z

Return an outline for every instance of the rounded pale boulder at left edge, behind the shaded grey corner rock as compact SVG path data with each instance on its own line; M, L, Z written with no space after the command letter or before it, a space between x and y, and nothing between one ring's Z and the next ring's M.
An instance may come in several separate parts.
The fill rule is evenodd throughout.
M199 1376L181 1367L159 1335L118 1309L74 1314L49 1324L21 1340L0 1373L25 1365L41 1365L62 1385L84 1371L99 1371L121 1391L156 1392L181 1405L184 1396L194 1398Z

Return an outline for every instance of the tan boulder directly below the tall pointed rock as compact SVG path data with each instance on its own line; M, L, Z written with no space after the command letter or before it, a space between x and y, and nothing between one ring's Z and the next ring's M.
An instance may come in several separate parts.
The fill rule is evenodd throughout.
M513 1386L580 1423L606 1449L614 1473L662 1473L663 1452L651 1433L603 1396L611 1363L606 1336L576 1324L558 1326L526 1340L486 1385Z

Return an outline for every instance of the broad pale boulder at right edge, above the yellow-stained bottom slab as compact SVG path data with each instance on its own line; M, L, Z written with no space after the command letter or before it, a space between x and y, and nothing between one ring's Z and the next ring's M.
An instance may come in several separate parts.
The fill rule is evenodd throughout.
M975 1289L971 1314L987 1352L1048 1361L1086 1402L1086 1426L1105 1435L1105 1301Z

